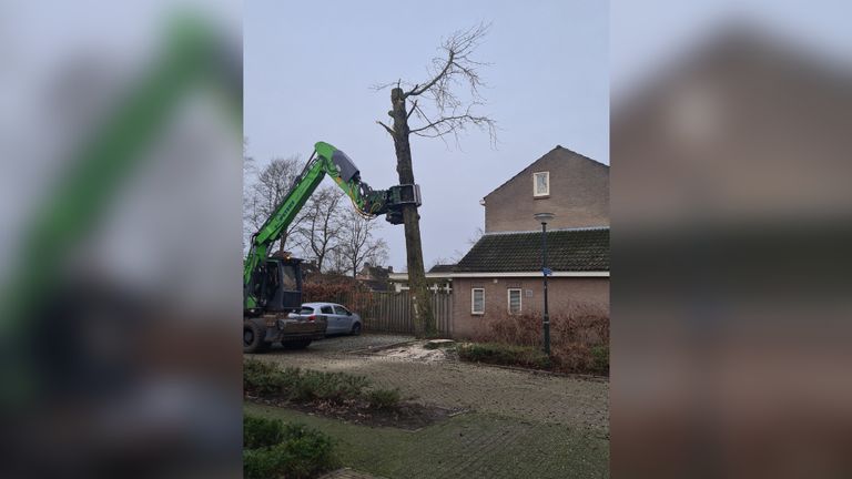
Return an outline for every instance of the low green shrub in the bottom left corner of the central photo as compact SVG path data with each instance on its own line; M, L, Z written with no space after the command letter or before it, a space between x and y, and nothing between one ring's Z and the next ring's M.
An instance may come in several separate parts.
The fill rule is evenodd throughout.
M310 478L336 466L332 439L303 425L246 416L243 444L246 479Z

